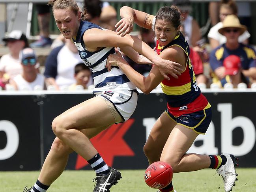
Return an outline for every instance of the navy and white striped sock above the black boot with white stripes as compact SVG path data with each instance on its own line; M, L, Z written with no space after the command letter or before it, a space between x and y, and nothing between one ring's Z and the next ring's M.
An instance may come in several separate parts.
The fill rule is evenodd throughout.
M93 158L87 161L90 166L95 171L96 175L107 175L109 173L109 169L103 158L99 155L95 155Z

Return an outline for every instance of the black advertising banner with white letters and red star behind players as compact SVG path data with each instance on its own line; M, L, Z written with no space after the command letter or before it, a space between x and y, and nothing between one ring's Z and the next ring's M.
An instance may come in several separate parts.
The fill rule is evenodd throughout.
M256 93L204 95L212 106L212 122L206 134L196 138L188 153L232 153L239 158L239 167L256 167ZM0 170L39 170L55 138L52 120L92 97L92 94L0 95ZM165 109L162 93L141 93L128 121L112 125L91 142L109 166L145 169L148 160L143 146ZM66 169L91 170L91 167L74 152L69 156Z

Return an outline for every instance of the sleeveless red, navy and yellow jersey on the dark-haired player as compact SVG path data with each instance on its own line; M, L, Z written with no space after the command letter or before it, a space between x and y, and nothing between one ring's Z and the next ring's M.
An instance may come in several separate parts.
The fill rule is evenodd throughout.
M200 88L196 85L196 77L189 59L189 44L181 32L164 47L161 47L159 41L157 41L155 51L160 54L164 49L173 46L182 48L187 55L187 62L185 70L178 79L169 75L170 80L164 79L161 82L169 112L178 117L211 107L206 97L202 95Z

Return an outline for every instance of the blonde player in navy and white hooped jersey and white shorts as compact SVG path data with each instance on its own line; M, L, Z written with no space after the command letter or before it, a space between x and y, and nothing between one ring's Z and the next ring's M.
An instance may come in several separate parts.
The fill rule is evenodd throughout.
M79 11L74 0L50 0L49 4L52 5L54 19L62 35L75 43L85 65L92 68L95 85L93 93L97 97L70 108L53 120L52 130L56 138L38 180L28 191L46 192L62 174L69 154L75 151L88 161L96 173L97 183L93 192L109 192L110 187L121 179L121 173L108 167L90 138L114 123L129 119L136 107L137 93L134 84L119 68L112 68L111 71L105 68L108 55L115 53L114 47L120 47L136 62L152 62L160 68L162 66L166 77L165 73L168 72L178 78L180 64L160 58L137 37L120 37L116 32L103 30L85 21L85 13Z

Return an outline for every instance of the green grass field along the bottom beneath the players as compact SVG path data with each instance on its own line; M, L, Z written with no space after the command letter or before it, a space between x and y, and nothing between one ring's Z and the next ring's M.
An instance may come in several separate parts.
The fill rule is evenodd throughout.
M205 169L174 174L177 192L224 192L222 178ZM256 192L256 168L237 168L238 181L232 192ZM23 192L36 182L39 171L0 171L0 192ZM156 192L144 183L144 170L121 170L122 179L111 192ZM47 192L92 192L93 171L64 171Z

